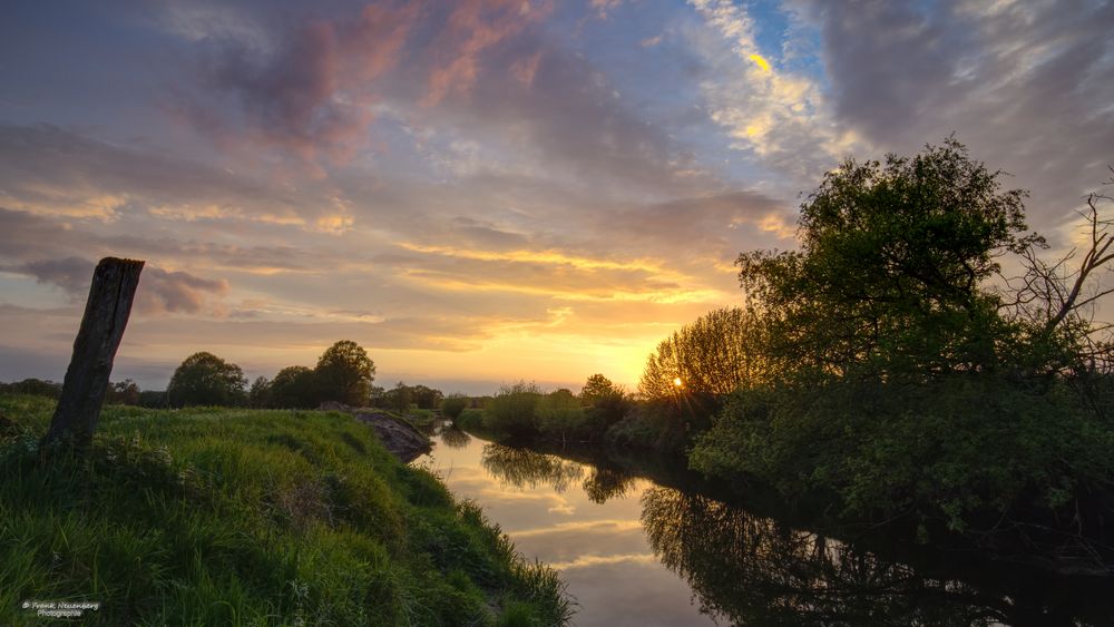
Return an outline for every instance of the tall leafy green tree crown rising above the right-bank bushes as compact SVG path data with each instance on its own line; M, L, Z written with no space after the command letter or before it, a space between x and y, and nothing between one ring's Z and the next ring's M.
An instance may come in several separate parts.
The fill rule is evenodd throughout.
M801 205L800 251L739 256L771 356L790 368L930 376L994 368L1014 330L983 282L1023 235L1025 193L954 138L886 164L847 159Z

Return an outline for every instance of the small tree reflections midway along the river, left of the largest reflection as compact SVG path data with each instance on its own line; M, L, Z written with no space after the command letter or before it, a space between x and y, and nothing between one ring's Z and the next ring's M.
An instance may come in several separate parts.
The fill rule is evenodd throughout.
M516 488L548 486L558 493L590 470L582 488L597 503L623 497L634 484L634 477L615 468L580 464L557 455L500 444L483 447L480 463L488 472Z

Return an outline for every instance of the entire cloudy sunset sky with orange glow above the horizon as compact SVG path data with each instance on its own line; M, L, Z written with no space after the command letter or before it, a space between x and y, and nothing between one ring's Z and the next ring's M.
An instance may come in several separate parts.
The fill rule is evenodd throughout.
M364 346L377 384L637 384L841 159L949 135L1055 247L1114 163L1114 2L100 0L0 20L0 380Z

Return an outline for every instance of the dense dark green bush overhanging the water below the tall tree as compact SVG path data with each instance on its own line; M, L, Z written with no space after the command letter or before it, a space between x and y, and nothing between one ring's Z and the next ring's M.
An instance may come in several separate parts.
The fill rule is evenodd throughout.
M1063 384L966 374L917 386L833 380L746 390L691 460L791 498L834 494L849 518L907 515L966 531L1085 502L1084 492L1114 484L1114 435L1083 418L1079 402Z

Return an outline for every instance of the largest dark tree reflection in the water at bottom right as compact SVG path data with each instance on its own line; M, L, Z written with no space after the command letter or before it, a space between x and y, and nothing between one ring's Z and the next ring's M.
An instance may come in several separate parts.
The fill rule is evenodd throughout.
M1075 624L704 497L652 488L642 502L654 552L737 625Z

